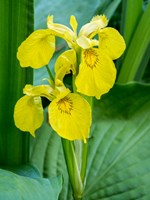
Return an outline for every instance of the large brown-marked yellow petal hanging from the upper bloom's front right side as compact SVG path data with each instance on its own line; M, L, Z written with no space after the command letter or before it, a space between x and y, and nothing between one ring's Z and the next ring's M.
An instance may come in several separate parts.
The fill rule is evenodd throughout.
M78 92L100 99L112 88L115 78L116 68L109 56L96 48L83 50L75 80Z

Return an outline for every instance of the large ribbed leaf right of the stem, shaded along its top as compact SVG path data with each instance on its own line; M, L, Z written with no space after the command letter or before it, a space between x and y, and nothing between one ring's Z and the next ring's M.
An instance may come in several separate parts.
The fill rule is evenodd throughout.
M149 195L149 97L149 86L128 84L96 102L85 199Z

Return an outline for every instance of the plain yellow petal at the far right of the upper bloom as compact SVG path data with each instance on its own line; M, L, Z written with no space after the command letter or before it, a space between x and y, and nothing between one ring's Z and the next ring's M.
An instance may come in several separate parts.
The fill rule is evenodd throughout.
M119 58L126 45L123 37L114 28L104 28L99 32L99 48L113 60Z

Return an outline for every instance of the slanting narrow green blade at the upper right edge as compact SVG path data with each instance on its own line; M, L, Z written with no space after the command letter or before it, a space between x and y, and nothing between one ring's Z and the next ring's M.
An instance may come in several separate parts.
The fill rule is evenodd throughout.
M118 76L118 83L126 83L135 80L140 69L140 64L145 57L145 52L150 43L150 3L143 13L138 26L134 32L130 45L125 53L121 71Z

